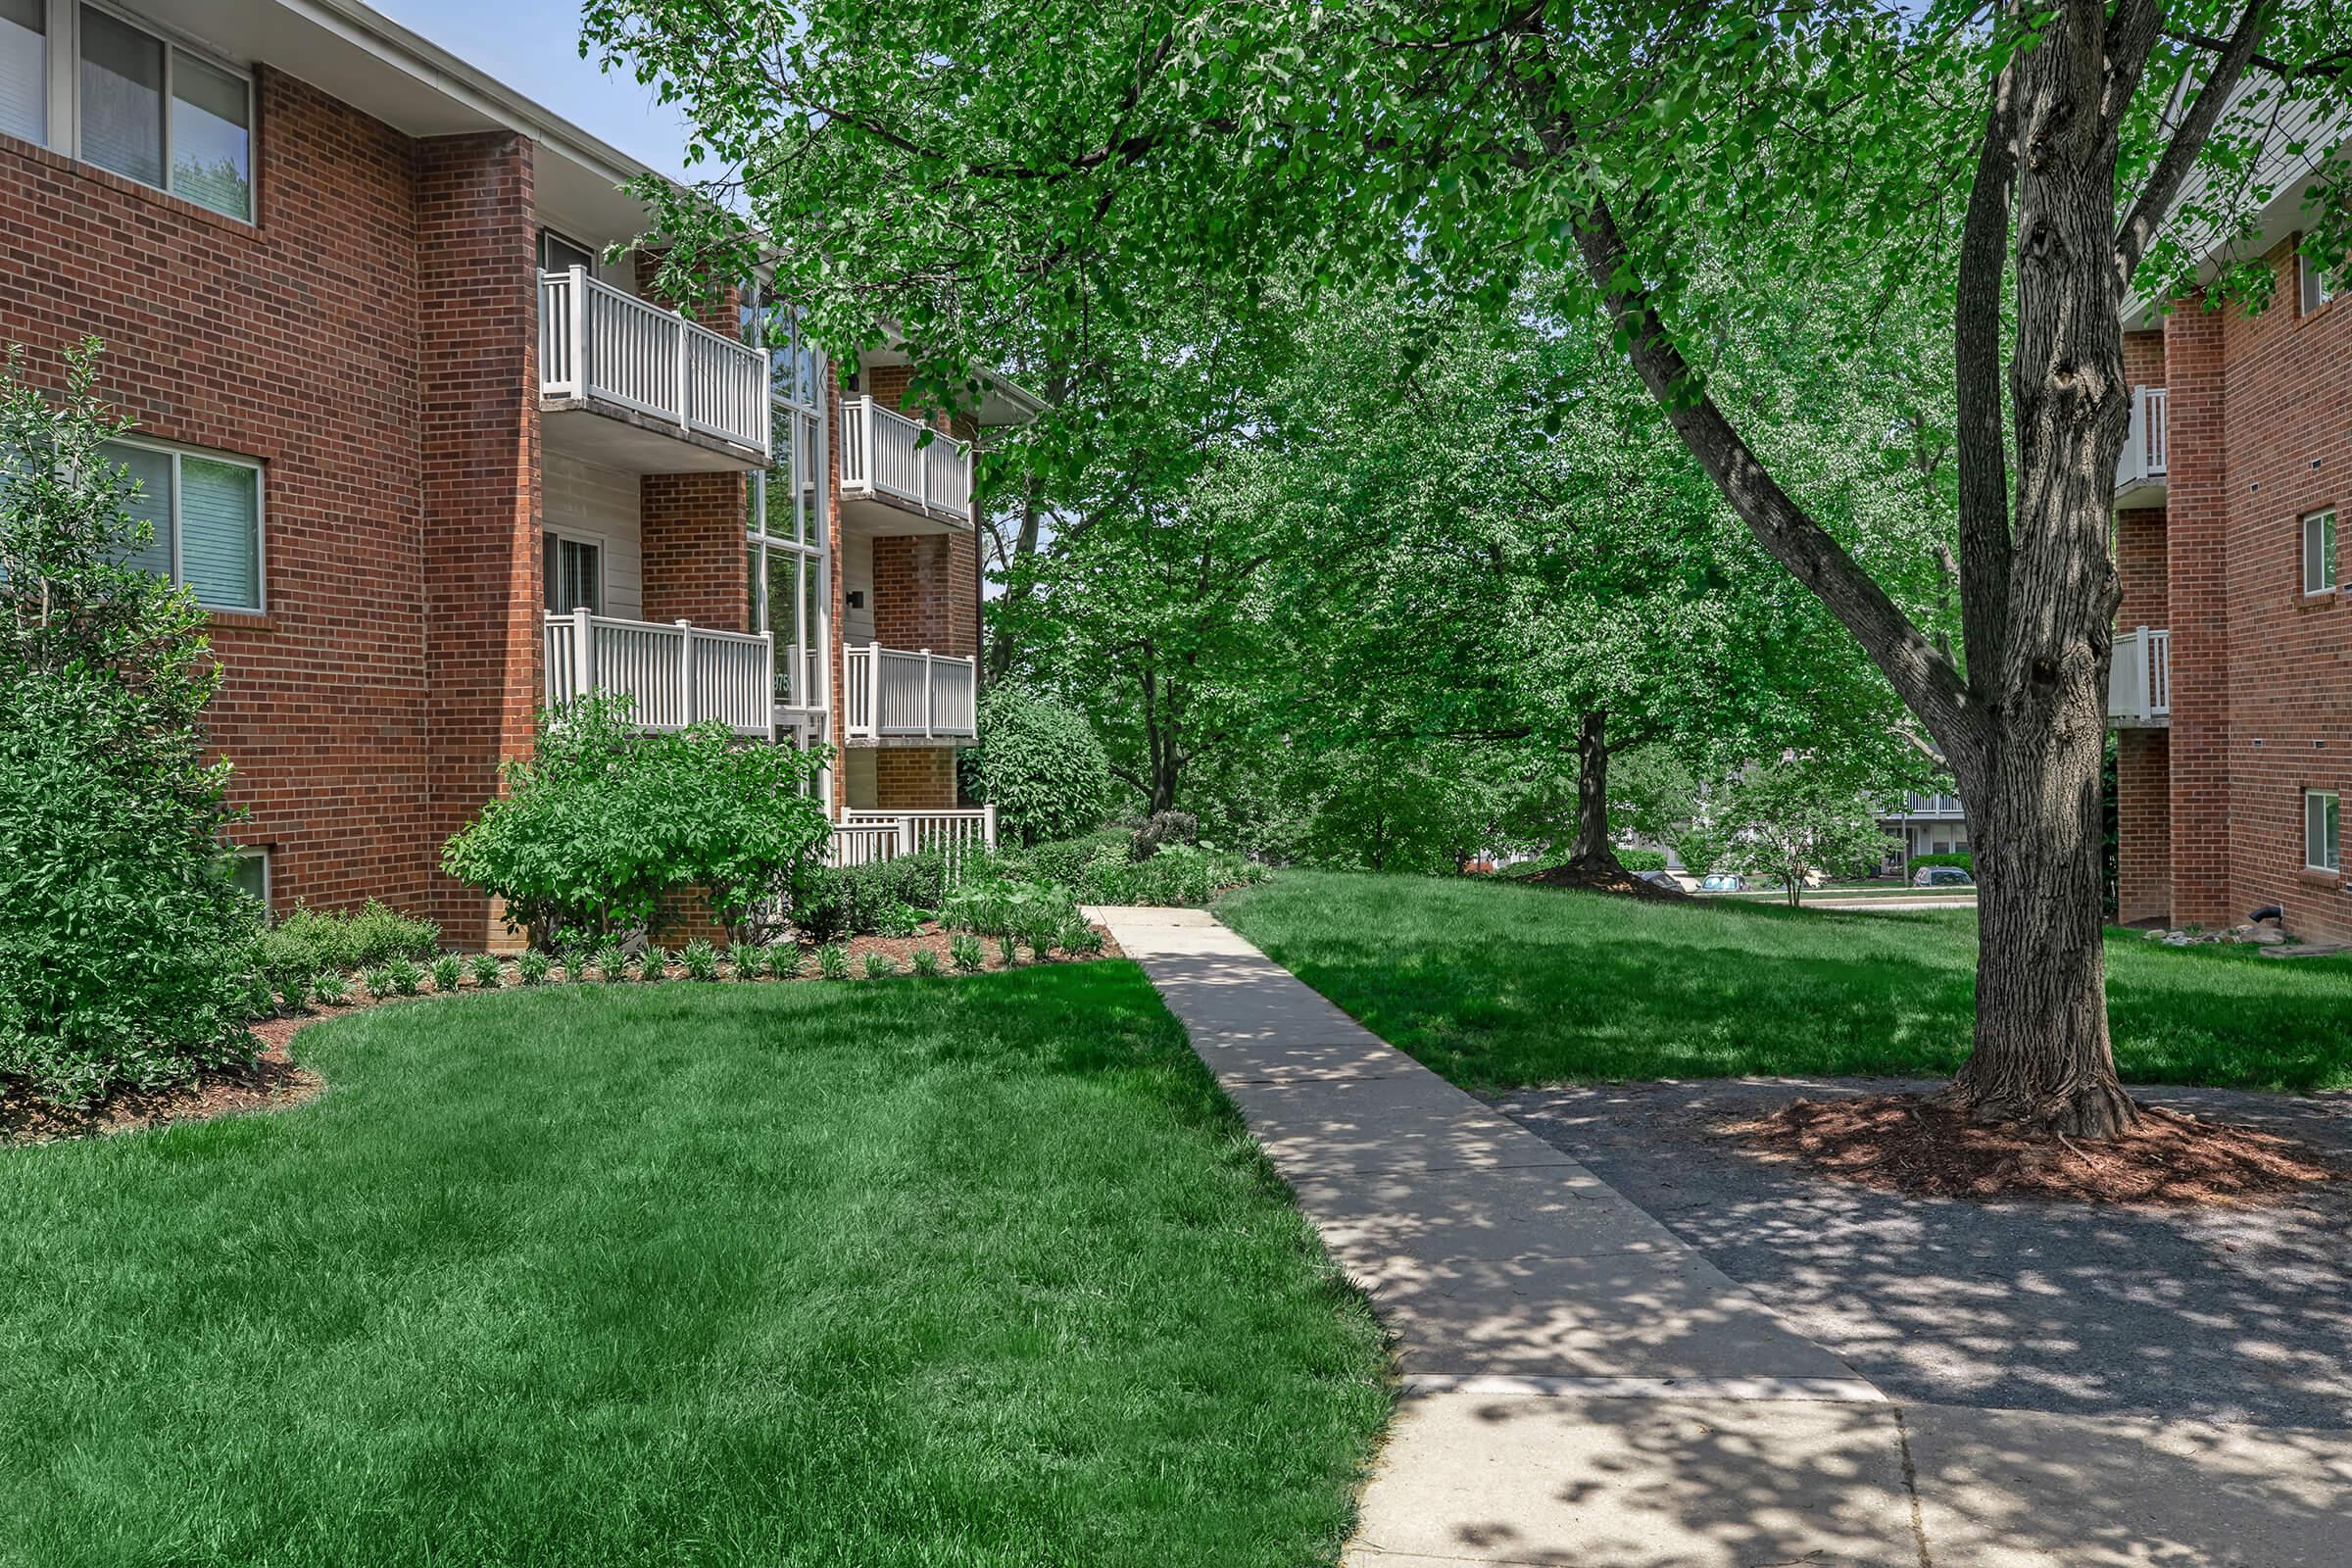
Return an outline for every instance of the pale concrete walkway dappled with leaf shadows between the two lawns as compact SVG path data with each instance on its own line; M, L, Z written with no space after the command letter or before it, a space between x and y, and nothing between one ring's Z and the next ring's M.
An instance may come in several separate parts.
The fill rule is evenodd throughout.
M1898 1408L1209 914L1089 914L1397 1340L1404 1399L1350 1568L2352 1561L2352 1455L2293 1432Z

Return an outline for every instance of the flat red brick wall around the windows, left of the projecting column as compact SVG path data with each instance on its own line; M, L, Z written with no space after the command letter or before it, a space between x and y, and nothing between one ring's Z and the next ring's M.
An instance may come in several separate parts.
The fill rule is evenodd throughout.
M275 71L256 108L256 223L0 139L0 341L54 386L96 334L143 435L261 458L268 614L212 628L235 837L287 907L426 912L419 167Z

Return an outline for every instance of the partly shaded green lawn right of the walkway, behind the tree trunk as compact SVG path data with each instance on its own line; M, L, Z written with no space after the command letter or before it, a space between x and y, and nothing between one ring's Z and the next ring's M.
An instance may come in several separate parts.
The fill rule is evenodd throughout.
M1976 914L1637 903L1494 879L1282 872L1218 905L1301 980L1465 1088L1962 1063ZM2110 931L2138 1084L2352 1088L2352 959Z

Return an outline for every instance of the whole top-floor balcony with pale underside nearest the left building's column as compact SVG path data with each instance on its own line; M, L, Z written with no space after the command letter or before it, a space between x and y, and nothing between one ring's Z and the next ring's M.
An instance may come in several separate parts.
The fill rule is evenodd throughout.
M586 268L539 275L539 407L553 451L628 473L767 468L767 355Z

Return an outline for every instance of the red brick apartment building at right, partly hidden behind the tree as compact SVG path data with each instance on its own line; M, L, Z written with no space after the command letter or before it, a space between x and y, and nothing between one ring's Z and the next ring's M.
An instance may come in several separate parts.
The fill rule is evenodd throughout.
M2279 905L2352 940L2352 299L2298 254L2303 181L2263 214L2267 310L2126 322L2114 494L2119 914L2223 926Z

